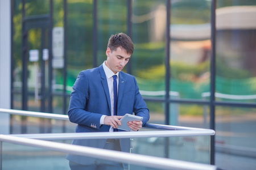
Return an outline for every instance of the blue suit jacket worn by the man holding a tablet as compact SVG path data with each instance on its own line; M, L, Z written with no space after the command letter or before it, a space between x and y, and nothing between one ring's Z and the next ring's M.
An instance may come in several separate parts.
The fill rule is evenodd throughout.
M134 76L119 72L117 115L126 113L143 117L142 126L149 120L149 111L139 93ZM109 131L110 126L100 125L102 114L111 116L108 82L103 66L84 70L77 76L69 103L69 120L76 123L76 132ZM122 130L118 130L122 131ZM74 140L73 145L104 148L106 139ZM122 151L130 151L130 139L120 139ZM93 158L67 155L72 162L87 165Z

